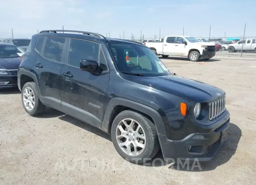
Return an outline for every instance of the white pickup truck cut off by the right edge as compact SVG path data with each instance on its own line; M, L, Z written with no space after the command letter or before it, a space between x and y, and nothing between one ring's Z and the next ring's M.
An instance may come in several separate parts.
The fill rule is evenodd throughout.
M235 44L229 44L228 52L237 52L238 50L243 51L256 51L255 39L244 39L240 40Z

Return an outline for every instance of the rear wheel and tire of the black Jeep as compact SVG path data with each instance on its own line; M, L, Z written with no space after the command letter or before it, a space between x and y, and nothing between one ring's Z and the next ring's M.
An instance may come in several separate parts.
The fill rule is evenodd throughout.
M33 95L30 92L30 90L33 93ZM29 95L26 92L28 92ZM29 99L30 102L26 103L26 105L25 105L24 101L27 98L28 99L31 98L31 99ZM33 103L33 99L34 99L34 103ZM42 104L42 102L40 101L40 99L38 97L38 91L36 90L35 82L27 82L23 86L23 88L21 90L21 101L22 101L23 108L31 116L39 115L45 110L45 105ZM33 108L30 105L32 105L32 106L34 105ZM29 108L29 106L30 106L30 108Z

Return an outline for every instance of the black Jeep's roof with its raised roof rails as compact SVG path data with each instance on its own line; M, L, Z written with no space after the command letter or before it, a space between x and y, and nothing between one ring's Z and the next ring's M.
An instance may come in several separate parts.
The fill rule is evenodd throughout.
M66 32L66 33L65 33ZM136 42L133 40L124 40L124 39L115 39L115 38L107 38L103 35L96 34L93 32L86 31L74 31L74 30L44 30L40 31L39 34L36 35L45 35L45 36L58 36L58 37L68 37L68 38L78 38L78 39L87 39L90 41L94 41L97 43L101 42L122 42L122 43L135 43L145 46L140 42ZM146 46L145 46L146 47Z

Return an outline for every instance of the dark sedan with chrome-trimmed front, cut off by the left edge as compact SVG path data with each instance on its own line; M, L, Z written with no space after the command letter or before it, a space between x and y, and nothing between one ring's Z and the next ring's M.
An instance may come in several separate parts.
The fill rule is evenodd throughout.
M18 87L17 73L23 53L13 44L0 43L0 89Z

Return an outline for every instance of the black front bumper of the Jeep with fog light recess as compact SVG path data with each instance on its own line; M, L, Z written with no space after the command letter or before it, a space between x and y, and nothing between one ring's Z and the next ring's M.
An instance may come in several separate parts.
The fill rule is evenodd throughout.
M182 140L169 140L166 135L159 135L159 141L166 161L209 161L227 140L229 113L221 120L222 124L212 132L200 132L188 135ZM207 131L207 129L206 129ZM194 138L196 137L196 138Z

